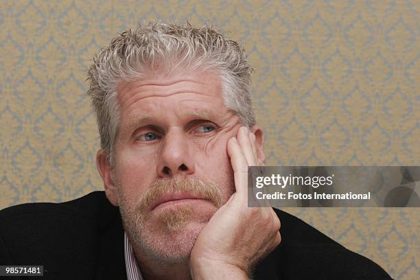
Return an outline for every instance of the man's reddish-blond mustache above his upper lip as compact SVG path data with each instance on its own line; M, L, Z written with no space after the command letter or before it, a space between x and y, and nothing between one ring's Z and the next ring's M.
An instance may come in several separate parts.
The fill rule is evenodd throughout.
M159 178L150 185L139 200L138 213L145 215L148 209L165 194L184 192L209 200L218 209L222 207L222 192L218 185L207 180L175 175L171 179Z

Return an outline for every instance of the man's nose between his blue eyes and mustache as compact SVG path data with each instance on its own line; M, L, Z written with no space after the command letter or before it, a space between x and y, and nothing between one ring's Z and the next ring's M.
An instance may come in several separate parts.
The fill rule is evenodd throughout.
M195 164L191 156L191 147L182 130L174 128L167 132L160 157L156 170L160 177L194 174Z

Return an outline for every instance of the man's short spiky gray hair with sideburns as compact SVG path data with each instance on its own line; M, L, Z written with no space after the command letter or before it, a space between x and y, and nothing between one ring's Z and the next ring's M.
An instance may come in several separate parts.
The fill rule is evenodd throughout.
M253 69L244 48L211 27L192 27L152 21L139 24L113 38L101 49L89 67L88 78L92 106L97 117L101 148L114 161L114 145L119 124L117 88L156 71L170 74L175 69L213 71L222 83L227 108L235 111L245 126L255 124L250 97Z

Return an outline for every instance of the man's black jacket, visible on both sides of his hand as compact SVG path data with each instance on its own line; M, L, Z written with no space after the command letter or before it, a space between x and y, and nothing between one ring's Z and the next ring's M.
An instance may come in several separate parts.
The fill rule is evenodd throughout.
M257 264L255 279L390 279L370 259L299 218L275 211L281 220L281 244ZM44 277L34 279L126 279L118 208L104 191L95 191L69 202L3 209L0 265L43 265Z

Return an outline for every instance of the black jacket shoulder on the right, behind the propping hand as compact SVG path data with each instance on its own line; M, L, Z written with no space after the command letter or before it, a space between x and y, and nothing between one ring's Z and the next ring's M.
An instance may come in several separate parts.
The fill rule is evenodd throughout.
M370 259L294 215L274 210L281 221L281 243L256 266L256 279L391 279Z

